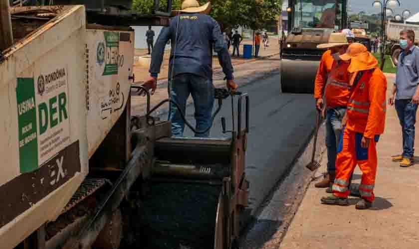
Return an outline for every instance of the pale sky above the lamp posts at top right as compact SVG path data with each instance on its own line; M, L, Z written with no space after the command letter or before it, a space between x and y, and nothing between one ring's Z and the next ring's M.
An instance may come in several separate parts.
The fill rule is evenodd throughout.
M403 10L409 9L414 15L419 12L419 0L399 0L402 4L401 7L393 7L395 14L402 14ZM374 0L348 0L348 6L352 12L365 11L369 14L381 12L380 8L372 6ZM383 2L383 0L381 0Z

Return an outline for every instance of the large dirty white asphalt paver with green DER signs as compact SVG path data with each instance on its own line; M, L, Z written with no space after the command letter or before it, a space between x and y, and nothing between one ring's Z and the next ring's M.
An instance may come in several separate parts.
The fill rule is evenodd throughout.
M133 84L130 27L167 25L171 1L150 14L112 1L55 2L64 5L9 9L1 248L232 248L247 206L248 96L216 90L214 117L238 97L236 125L226 131L222 119L230 136L174 138L170 121L153 115L170 101L152 108ZM132 98L146 98L143 115L131 114Z

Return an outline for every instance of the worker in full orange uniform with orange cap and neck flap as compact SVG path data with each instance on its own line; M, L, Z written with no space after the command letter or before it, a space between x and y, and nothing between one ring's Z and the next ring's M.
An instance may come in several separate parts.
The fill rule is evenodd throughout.
M351 61L351 94L348 101L343 137L336 159L333 194L323 197L323 204L348 205L349 178L358 164L363 175L357 209L368 209L374 201L377 173L376 143L384 132L387 80L377 67L375 57L361 43L353 43L340 58Z

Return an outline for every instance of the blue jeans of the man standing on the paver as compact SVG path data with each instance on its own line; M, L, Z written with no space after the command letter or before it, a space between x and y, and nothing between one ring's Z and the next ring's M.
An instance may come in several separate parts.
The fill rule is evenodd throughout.
M204 131L211 125L212 107L214 106L214 86L212 80L195 74L178 74L172 82L172 99L180 106L185 114L186 103L192 95L195 105L195 120L197 131ZM174 104L170 105L170 120L172 121L172 136L182 136L185 123L179 110ZM196 137L208 137L210 130L198 134Z

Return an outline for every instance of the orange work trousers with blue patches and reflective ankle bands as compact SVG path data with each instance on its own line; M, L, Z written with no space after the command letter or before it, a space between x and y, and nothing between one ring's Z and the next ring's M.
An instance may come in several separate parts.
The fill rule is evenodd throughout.
M333 194L343 198L349 196L349 178L358 164L362 171L359 192L363 199L373 202L373 190L377 173L376 144L379 135L371 139L368 148L363 148L361 147L362 133L348 129L345 129L342 133L336 158L336 178L332 186Z

